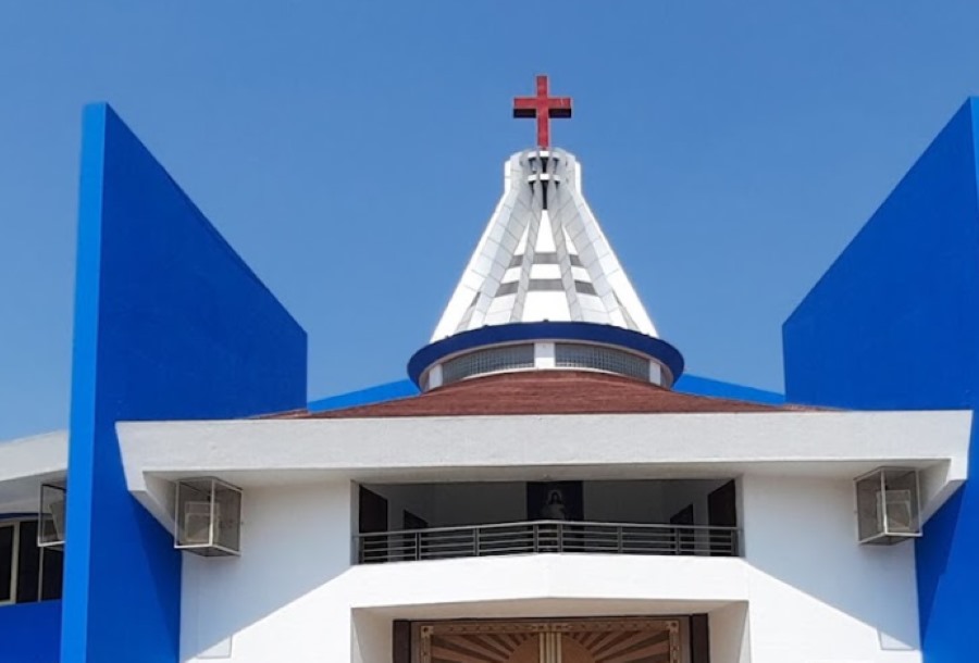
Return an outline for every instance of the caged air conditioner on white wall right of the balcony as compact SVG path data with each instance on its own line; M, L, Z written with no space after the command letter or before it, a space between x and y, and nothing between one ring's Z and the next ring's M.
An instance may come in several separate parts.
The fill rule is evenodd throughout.
M880 467L855 483L860 543L893 545L921 536L916 470Z

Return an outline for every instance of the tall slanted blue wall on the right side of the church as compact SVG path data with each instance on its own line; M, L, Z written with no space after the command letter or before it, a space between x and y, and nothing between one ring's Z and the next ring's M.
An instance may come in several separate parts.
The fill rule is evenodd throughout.
M852 409L979 404L977 100L969 100L783 327L786 398ZM928 440L921 440L927 445ZM979 467L974 430L971 466ZM917 542L927 663L977 661L979 489Z

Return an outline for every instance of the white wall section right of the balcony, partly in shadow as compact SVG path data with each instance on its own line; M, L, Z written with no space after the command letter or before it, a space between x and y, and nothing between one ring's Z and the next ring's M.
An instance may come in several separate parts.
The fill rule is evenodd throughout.
M853 483L746 476L753 663L918 662L914 545L856 543Z

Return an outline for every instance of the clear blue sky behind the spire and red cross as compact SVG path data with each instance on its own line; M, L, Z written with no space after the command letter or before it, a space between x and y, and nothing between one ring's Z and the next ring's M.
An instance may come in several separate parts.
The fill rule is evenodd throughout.
M321 398L404 377L546 72L662 336L781 389L781 322L979 92L977 29L975 0L4 2L0 439L67 418L86 102L306 327Z

